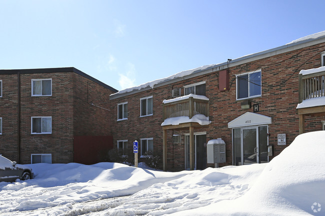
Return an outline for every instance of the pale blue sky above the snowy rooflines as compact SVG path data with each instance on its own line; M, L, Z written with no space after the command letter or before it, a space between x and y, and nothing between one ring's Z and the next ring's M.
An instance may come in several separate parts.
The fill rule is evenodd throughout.
M325 30L323 0L0 0L0 69L75 67L122 90Z

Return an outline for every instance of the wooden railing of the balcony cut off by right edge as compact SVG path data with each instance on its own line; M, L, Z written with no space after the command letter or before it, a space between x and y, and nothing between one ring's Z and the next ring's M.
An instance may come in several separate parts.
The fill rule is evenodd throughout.
M315 97L324 97L325 71L299 74L299 103Z

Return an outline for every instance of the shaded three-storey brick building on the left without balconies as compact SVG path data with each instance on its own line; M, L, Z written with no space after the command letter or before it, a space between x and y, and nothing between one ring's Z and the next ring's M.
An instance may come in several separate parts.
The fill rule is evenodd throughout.
M73 67L0 70L0 154L23 164L99 162L112 147L115 92Z

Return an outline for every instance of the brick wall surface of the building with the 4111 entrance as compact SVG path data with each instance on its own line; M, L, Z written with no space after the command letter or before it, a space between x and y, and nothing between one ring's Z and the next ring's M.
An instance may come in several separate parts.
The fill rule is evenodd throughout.
M114 116L112 133L113 143L117 140L134 140L140 142L140 138L153 137L153 149L162 157L162 101L171 98L171 89L205 81L206 97L209 98L208 129L195 129L194 132L206 132L206 141L222 138L226 143L226 163L220 166L232 165L232 131L227 124L252 108L242 110L240 100L236 101L235 75L261 69L261 97L252 98L251 103L259 104L258 114L272 118L272 124L268 126L270 136L269 145L273 145L274 156L278 155L298 135L298 115L295 109L298 104L298 73L301 69L310 69L320 66L320 52L325 44L298 49L295 51L278 54L261 60L248 62L229 68L230 89L226 92L218 90L218 71L195 78L186 79L177 83L164 85L151 90L134 93L129 96L111 100L111 110ZM153 96L153 115L139 117L140 98ZM128 103L128 119L116 121L117 104ZM323 117L306 118L305 131L321 130ZM182 131L168 131L167 133L167 170L177 171L184 169L184 133ZM286 146L277 146L277 134L286 134ZM182 135L181 144L172 144L172 134ZM139 147L140 148L140 147ZM273 156L273 157L274 157ZM269 157L271 160L273 157ZM162 165L161 165L162 166ZM212 166L212 165L209 165Z

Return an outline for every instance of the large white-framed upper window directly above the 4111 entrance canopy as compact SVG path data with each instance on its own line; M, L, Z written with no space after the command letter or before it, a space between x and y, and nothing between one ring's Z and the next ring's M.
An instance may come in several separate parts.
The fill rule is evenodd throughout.
M237 99L261 95L261 70L236 75Z

